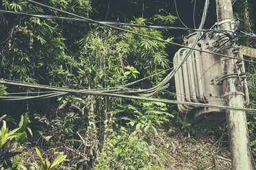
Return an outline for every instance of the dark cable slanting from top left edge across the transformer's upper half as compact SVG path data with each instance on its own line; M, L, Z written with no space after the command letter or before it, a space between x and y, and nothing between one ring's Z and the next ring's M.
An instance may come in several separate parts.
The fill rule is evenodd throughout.
M45 4L43 4L43 3L39 3L39 2L36 2L36 1L32 1L32 0L27 0L27 1L30 1L30 2L32 2L32 3L36 3L36 4L38 4L38 5L42 5L42 6L44 6L44 7L50 8L50 9L52 9L52 10L57 10L58 12L63 12L63 13L65 13L65 14L70 14L70 15L72 15L72 16L76 16L76 17L81 18L81 19L87 19L87 18L85 18L85 17L83 17L83 16L79 16L79 15L77 15L77 14L73 14L73 13L70 13L70 12L66 12L66 11L63 11L63 10L59 10L58 8L54 8L54 7L51 7L51 6L49 6L49 5L45 5ZM111 27L111 28L114 28L114 29L118 29L118 30L120 30L120 31L122 31L122 32L127 32L127 33L134 34L134 35L137 35L137 36L142 36L142 37L145 37L145 38L150 38L150 39L152 39L152 40L158 40L158 41L161 41L161 42L169 43L169 44L171 44L171 45L177 45L177 46L184 47L184 48L187 48L187 49L194 49L194 50L196 50L196 51L202 51L202 52L205 52L205 53L211 53L211 54L213 54L213 55L223 56L223 57L226 57L226 58L233 58L233 59L236 59L236 60L243 60L243 61L246 61L246 62L253 62L253 63L256 63L256 61L251 61L251 60L245 60L245 59L235 58L235 57L232 57L232 56L226 56L226 55L221 54L221 53L213 53L213 52L211 52L211 51L204 51L204 50L202 50L202 49L195 49L195 48L187 47L186 45L180 45L180 44L175 43L175 42L170 42L170 41L167 41L167 40L162 40L162 39L159 39L159 38L154 38L154 37L147 36L147 35L144 35L144 34L139 34L139 33L136 33L136 32L132 32L132 31L130 31L130 30L128 30L128 29L122 29L122 28L120 28L120 27L114 27L114 26L112 26L112 25L108 25L108 24L105 24L105 23L100 23L100 22L94 21L94 20L92 20L92 19L87 19L87 20L90 21L90 22L92 22L92 23L97 23L97 24L99 24L99 25L104 25L104 26L106 26L106 27Z

